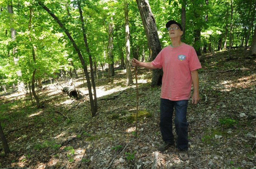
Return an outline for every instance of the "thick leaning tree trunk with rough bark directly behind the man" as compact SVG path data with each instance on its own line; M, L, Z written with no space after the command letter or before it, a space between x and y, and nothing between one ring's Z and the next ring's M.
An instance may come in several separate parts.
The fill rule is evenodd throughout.
M144 26L144 30L148 41L148 50L150 61L153 61L157 54L161 51L160 40L157 33L156 22L148 4L148 0L136 0L140 11L140 17ZM161 70L154 69L151 86L159 84Z

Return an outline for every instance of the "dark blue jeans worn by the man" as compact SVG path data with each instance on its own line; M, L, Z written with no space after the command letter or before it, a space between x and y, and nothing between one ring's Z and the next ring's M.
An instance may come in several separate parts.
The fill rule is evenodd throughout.
M164 142L174 144L172 133L172 115L175 109L175 129L177 133L176 147L180 150L188 150L188 100L171 101L162 99L160 103L160 130Z

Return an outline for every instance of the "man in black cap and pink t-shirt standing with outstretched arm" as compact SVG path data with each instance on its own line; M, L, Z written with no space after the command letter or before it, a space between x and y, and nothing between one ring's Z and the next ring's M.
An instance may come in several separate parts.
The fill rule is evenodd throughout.
M189 158L188 153L188 122L187 107L190 99L191 85L193 82L194 94L192 103L199 101L199 80L197 69L201 64L192 46L183 43L180 39L183 34L182 27L174 20L166 23L169 31L171 45L156 56L152 62L140 62L132 59L132 66L140 66L148 69L163 68L160 103L160 130L164 143L158 149L165 151L174 146L172 133L172 115L175 109L175 128L177 133L176 147L179 149L181 160Z

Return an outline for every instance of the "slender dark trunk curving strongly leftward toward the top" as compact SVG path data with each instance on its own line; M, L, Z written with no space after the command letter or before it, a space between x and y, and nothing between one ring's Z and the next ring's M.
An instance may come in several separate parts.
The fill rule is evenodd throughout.
M41 2L37 2L40 6L42 6L44 8L45 11L47 11L52 18L54 18L57 23L60 25L60 27L64 30L64 32L66 33L66 35L68 36L68 39L71 41L71 44L73 45L73 47L75 48L78 57L81 61L83 70L84 70L84 74L86 77L86 81L87 81L87 87L88 87L88 92L89 92L89 98L90 98L90 105L91 105L91 111L92 111L92 116L94 116L96 114L96 109L94 107L94 102L93 102L93 98L92 98L92 86L91 86L91 82L90 82L90 77L88 74L88 70L87 70L87 65L84 62L84 58L79 50L79 48L76 46L76 42L74 41L74 39L71 37L70 33L68 32L68 30L65 28L65 26L60 22L59 18L57 18L52 11L50 11L44 4L42 4Z

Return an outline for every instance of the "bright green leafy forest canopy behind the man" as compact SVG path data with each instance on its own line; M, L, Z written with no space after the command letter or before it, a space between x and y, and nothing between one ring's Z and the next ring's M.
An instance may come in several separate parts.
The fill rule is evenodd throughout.
M150 52L135 0L79 0L84 16L81 19L77 1L2 0L0 2L0 84L12 86L35 79L49 79L71 69L81 69L72 44L76 43L89 65L94 67L111 62L121 64L125 53L124 4L128 4L131 58L150 61ZM54 14L52 18L44 4ZM161 48L170 44L165 23L182 23L183 41L194 46L200 56L228 47L251 46L255 28L256 4L248 0L154 0L148 2L155 18ZM243 5L241 5L243 4ZM50 14L51 14L50 13ZM113 27L113 59L109 53L109 25ZM83 29L82 29L83 28ZM65 34L68 30L74 42ZM86 34L90 51L84 45ZM230 38L229 38L230 36ZM33 55L35 56L33 59Z

